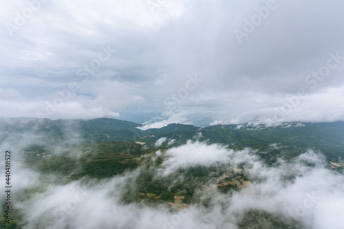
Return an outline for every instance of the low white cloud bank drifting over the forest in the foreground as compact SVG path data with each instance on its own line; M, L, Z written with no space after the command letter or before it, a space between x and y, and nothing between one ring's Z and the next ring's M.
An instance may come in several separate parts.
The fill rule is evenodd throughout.
M1 147L6 148L4 144ZM297 225L316 229L344 226L344 177L328 169L319 153L309 150L293 160L278 160L273 166L268 166L250 149L228 151L225 146L205 142L187 142L160 153L166 159L152 168L156 180L173 177L175 181L183 181L184 174L178 172L179 168L215 166L230 172L244 166L243 173L251 183L233 195L219 193L216 188L196 188L198 202L180 212L171 212L167 204L124 204L123 193L136 190L140 174L147 169L140 167L109 179L84 179L69 184L52 182L30 199L17 199L14 207L23 213L25 228L113 228L114 225L118 228L211 229L228 225L239 228L249 210L266 212L264 214L293 228ZM41 175L23 166L15 166L13 174L21 177L17 192L41 180ZM34 179L31 176L22 179L28 174ZM208 184L224 179L223 173L208 176ZM1 194L0 199L3 197ZM259 221L262 226L268 226L264 223L270 216L267 221Z

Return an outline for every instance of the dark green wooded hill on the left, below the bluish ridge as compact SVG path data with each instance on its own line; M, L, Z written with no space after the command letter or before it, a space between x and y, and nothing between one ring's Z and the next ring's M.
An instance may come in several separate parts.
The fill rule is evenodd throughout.
M137 157L149 152L134 142L97 142L78 144L50 157L37 157L36 153L24 153L23 157L26 157L25 164L35 171L72 181L85 176L102 179L123 173L136 168Z

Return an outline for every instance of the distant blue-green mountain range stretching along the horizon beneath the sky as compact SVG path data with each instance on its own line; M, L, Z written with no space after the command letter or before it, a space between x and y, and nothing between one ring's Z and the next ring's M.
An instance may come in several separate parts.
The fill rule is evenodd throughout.
M195 127L189 124L169 124L160 129L142 131L141 124L98 118L93 120L49 120L38 118L8 118L0 120L0 142L12 138L39 139L41 142L64 142L78 138L86 142L131 141L154 147L177 146L188 140L225 144L231 149L250 147L257 151L276 150L284 154L299 154L306 149L323 152L329 160L344 157L344 122L286 122L274 127L265 124L228 124ZM17 137L16 137L17 136Z

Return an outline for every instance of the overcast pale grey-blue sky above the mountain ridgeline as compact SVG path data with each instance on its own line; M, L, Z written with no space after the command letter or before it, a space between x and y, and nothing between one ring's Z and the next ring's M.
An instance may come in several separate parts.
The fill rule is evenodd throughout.
M343 1L0 1L0 118L344 120Z

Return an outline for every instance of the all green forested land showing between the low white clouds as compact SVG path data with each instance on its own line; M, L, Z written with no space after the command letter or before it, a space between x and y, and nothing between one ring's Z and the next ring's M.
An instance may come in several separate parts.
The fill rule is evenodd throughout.
M138 168L140 173L124 182L121 193L124 204L144 202L145 204L173 203L175 198L181 204L208 206L206 199L198 198L200 193L216 188L222 195L232 195L248 184L246 165L233 171L228 164L213 166L191 166L180 168L169 175L160 175L158 168L166 160L164 151L167 142L175 140L173 146L205 141L206 144L222 144L230 149L241 150L250 147L256 150L261 160L273 166L279 160L292 160L307 149L321 151L331 162L338 162L344 152L344 122L334 123L290 123L289 127L252 127L249 124L219 125L200 129L192 125L170 124L162 129L141 131L138 124L111 119L97 120L26 120L21 124L0 122L0 140L11 133L29 131L35 141L19 153L18 160L41 174L41 184L20 193L20 198L30 199L43 193L51 182L67 184L79 179L107 179ZM67 129L78 130L78 135L67 133ZM74 133L74 132L72 132ZM167 141L156 149L159 138ZM82 141L78 140L82 139ZM50 144L46 144L50 142ZM59 146L56 148L55 146ZM55 147L55 148L54 148ZM156 155L156 151L162 155ZM338 164L341 165L341 164ZM329 165L330 168L330 165ZM332 163L335 171L343 173L342 166ZM50 175L57 177L50 180ZM135 187L131 185L135 183ZM173 206L173 205L172 205ZM2 209L5 206L1 206ZM173 208L173 207L171 207ZM10 225L0 218L0 228L20 228L21 213L13 209L15 217ZM302 228L296 221L279 215L249 210L239 222L239 228Z

